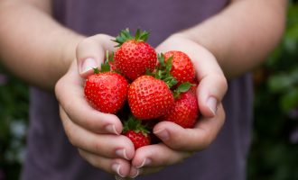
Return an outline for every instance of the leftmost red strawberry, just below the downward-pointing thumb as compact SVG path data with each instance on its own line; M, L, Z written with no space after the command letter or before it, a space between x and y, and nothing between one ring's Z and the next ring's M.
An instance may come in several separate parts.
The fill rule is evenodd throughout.
M98 111L116 113L126 102L126 78L114 72L88 76L84 86L85 97Z

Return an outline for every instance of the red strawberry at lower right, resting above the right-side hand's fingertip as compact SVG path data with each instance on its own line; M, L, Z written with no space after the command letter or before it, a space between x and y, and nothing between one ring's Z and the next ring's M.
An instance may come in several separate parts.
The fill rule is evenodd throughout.
M183 128L193 128L199 117L197 97L190 91L180 94L172 109L161 118L161 121L172 121Z

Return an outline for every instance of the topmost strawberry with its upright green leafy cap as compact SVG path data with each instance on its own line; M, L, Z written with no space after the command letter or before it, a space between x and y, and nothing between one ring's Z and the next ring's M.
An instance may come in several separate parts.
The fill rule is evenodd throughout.
M137 30L133 37L128 29L116 37L119 48L115 51L116 69L130 80L153 71L156 65L156 52L147 42L149 33Z

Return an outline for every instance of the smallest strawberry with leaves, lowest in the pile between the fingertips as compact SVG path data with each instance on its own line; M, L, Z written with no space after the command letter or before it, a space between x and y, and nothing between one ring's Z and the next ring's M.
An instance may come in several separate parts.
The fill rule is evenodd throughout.
M131 139L135 149L151 144L149 130L141 124L141 121L136 120L132 115L129 117L128 121L124 123L123 134Z

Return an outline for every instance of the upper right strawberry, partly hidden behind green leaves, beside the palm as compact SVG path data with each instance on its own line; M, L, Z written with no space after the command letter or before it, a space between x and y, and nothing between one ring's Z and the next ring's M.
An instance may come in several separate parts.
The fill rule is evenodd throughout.
M171 75L176 78L178 84L191 82L195 77L195 69L189 58L184 52L171 50L164 53L165 61L172 57Z

